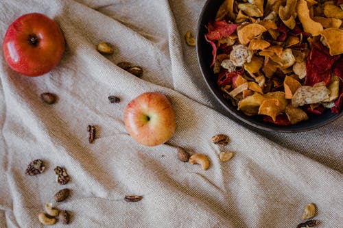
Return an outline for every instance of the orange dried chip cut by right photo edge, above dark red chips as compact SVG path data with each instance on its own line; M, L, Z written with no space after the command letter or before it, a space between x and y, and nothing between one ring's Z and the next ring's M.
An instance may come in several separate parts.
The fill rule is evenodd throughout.
M343 53L343 30L336 28L324 29L322 31L327 46L329 46L330 55L340 55Z

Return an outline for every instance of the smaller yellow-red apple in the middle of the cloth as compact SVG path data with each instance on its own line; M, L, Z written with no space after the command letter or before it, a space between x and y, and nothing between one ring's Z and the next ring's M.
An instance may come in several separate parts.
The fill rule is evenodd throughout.
M132 99L124 112L128 134L140 144L163 144L175 132L175 111L160 92L145 92Z

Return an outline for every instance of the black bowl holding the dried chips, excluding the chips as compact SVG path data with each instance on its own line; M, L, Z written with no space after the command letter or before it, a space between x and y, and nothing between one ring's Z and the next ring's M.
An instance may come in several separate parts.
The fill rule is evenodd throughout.
M212 47L208 42L206 42L204 38L204 35L206 34L205 26L208 25L209 21L214 20L215 14L217 13L218 8L223 2L224 1L220 0L208 0L202 8L197 27L198 33L196 38L196 52L202 76L204 77L207 86L209 86L209 89L211 90L217 101L219 101L230 113L228 114L228 116L233 116L233 118L237 118L239 121L242 121L243 123L246 123L251 127L263 129L265 131L300 132L316 129L318 127L327 125L328 123L334 121L342 115L343 112L340 112L340 114L333 114L331 113L331 110L327 109L321 115L309 114L308 121L302 121L300 123L297 123L296 125L280 126L275 125L274 123L263 122L261 115L246 116L246 114L244 114L243 112L238 111L237 107L233 106L230 101L225 99L216 84L217 77L213 73L213 68L210 68L210 64L213 59L211 54Z

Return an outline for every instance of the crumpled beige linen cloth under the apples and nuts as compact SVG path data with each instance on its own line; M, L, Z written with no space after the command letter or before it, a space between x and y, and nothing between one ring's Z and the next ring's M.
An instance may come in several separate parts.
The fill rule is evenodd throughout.
M60 64L42 77L0 66L0 227L43 227L38 214L54 193L70 188L71 224L54 227L296 227L316 203L319 227L343 227L343 119L300 134L253 131L227 117L206 88L196 50L204 0L1 0L0 36L15 18L41 12L58 21L67 42ZM100 41L113 55L95 49ZM116 64L143 67L137 78ZM147 91L163 92L176 110L167 144L137 144L123 125L126 104ZM40 93L58 94L46 105ZM109 103L115 95L120 103ZM88 143L89 124L97 138ZM227 134L217 147L211 136ZM268 139L269 138L269 139ZM209 170L182 163L176 147L204 153ZM220 162L220 151L235 157ZM29 177L29 162L44 173ZM56 183L54 167L71 176ZM127 194L142 195L127 203Z

